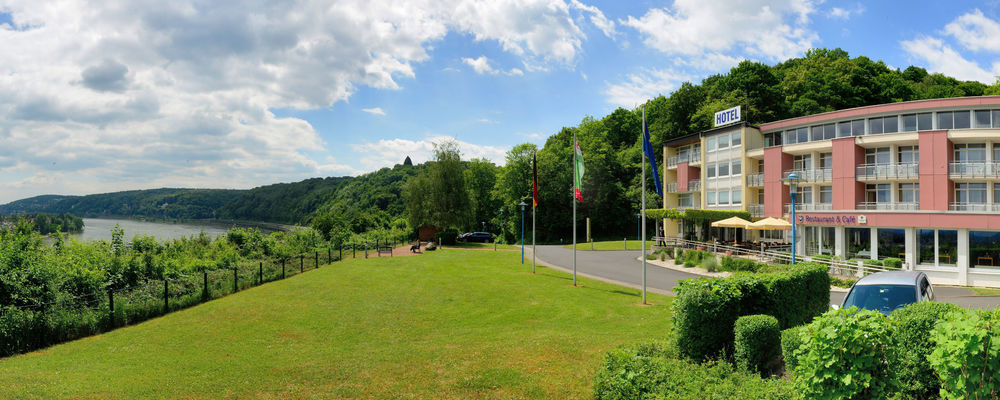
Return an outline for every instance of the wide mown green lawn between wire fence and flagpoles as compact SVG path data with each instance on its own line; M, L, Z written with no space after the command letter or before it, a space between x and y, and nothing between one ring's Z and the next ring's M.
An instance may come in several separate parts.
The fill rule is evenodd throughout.
M0 397L589 398L606 351L667 335L670 298L519 257L335 263L0 360Z

